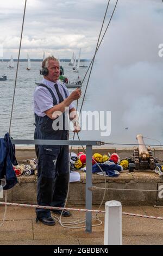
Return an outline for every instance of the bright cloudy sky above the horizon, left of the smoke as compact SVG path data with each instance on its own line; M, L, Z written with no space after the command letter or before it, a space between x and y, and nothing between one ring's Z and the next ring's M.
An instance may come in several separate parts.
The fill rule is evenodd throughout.
M0 1L4 58L11 53L17 56L24 2ZM110 11L114 2L110 3ZM91 58L107 3L107 0L27 0L21 57L30 52L32 58L41 58L44 50L47 54L70 58L70 52L81 47L82 57Z

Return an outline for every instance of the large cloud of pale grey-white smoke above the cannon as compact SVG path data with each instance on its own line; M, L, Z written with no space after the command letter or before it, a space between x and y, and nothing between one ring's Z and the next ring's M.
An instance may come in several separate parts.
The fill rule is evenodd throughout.
M119 2L97 53L85 99L95 102L92 111L111 111L111 135L83 132L83 139L135 143L142 133L163 143L163 58L158 55L162 13L161 1Z

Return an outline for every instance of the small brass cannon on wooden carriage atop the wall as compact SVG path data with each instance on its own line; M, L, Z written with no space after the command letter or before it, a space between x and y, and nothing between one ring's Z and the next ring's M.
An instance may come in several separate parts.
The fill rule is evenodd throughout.
M129 163L129 172L140 169L155 169L160 164L152 156L151 147L146 147L141 134L136 136L138 147L134 147L133 162Z

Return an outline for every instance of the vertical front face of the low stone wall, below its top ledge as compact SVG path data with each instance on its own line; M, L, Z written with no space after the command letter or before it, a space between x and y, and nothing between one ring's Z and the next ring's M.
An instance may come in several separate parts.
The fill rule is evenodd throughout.
M71 182L68 194L68 205L85 205L86 174L80 173L80 182ZM163 204L163 193L156 191L130 191L130 190L158 190L163 189L163 179L152 170L135 171L129 173L123 171L117 178L106 178L106 190L104 203L108 200L118 200L123 205L151 205ZM7 191L7 201L16 203L36 204L37 178L35 175L18 178L20 181L14 188ZM103 175L92 174L92 186L105 187ZM123 190L120 190L123 189ZM126 190L126 191L124 191ZM160 193L160 194L159 194ZM99 205L102 201L104 190L92 191L93 204ZM4 201L4 199L1 199Z

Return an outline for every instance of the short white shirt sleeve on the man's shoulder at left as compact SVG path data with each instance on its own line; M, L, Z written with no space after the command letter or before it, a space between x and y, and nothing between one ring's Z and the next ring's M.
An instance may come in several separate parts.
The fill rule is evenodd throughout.
M48 90L39 88L34 92L34 104L43 113L53 107L53 98Z

